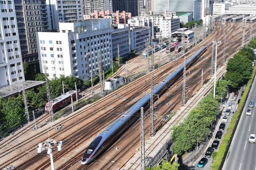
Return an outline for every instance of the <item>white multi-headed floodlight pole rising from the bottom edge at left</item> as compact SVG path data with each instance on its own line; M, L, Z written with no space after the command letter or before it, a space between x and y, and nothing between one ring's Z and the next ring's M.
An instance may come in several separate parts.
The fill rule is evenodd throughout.
M51 170L54 170L52 148L56 147L56 146L58 148L58 151L61 151L62 150L62 141L59 141L58 145L57 145L56 141L49 138L45 141L44 145L42 143L39 143L38 148L37 148L37 153L39 153L39 154L42 152L42 150L47 149L47 154L50 154L50 158L51 158Z

